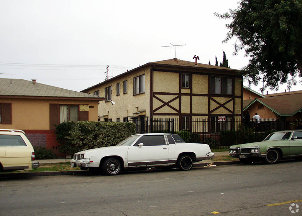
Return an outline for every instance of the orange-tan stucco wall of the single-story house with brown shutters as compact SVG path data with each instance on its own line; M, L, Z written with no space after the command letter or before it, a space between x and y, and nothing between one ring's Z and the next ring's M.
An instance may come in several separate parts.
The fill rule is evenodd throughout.
M50 103L59 104L88 104L89 121L98 120L98 101L87 100L51 100L51 99L1 99L0 103L11 103L12 124L0 124L2 129L20 130L49 130L50 129Z

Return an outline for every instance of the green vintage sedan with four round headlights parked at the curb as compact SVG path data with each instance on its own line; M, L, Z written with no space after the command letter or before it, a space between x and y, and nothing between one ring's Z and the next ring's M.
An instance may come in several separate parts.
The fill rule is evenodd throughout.
M232 157L239 157L244 164L264 160L275 164L281 158L302 158L302 130L273 132L262 142L232 145L229 149Z

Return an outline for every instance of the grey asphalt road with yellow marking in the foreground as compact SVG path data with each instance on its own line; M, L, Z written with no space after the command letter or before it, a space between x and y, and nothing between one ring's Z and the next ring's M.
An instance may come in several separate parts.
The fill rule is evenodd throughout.
M1 179L0 215L301 215L301 170L294 161Z

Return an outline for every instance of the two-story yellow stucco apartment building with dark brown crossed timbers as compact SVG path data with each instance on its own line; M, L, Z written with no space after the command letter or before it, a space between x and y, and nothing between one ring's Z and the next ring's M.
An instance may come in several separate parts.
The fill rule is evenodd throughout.
M82 92L106 98L99 104L101 121L179 119L179 130L191 131L192 119L206 119L211 122L206 130L219 132L223 118L241 119L242 86L238 70L169 59L147 63Z

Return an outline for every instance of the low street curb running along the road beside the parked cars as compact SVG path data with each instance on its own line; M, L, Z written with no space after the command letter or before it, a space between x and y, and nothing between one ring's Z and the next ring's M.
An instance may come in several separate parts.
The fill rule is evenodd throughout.
M231 165L240 164L240 161L217 161L212 162L213 165ZM194 164L194 167L204 167L209 163ZM0 173L0 179L4 178L24 178L32 176L62 176L62 175L87 175L89 170L70 170L70 171L51 171L51 172L26 172L26 173Z

